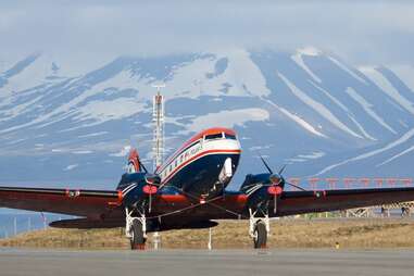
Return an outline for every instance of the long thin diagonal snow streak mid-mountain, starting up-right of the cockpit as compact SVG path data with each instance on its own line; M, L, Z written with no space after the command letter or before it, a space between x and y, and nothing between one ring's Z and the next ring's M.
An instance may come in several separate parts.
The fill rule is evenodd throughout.
M313 100L298 87L296 87L289 79L287 79L283 74L277 73L277 75L284 80L284 83L289 87L290 91L299 98L303 103L308 104L311 109L313 109L321 116L325 117L334 126L342 129L343 131L356 137L362 138L362 136L357 135L353 130L351 130L348 126L346 126L342 122L340 122L325 105Z

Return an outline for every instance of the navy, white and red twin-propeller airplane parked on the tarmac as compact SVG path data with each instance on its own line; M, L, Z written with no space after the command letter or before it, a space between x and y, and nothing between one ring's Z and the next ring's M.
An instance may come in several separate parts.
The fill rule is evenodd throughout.
M249 219L254 248L265 248L269 219L414 200L414 187L305 190L288 183L285 167L249 174L238 191L226 190L239 164L235 130L209 128L186 141L150 173L138 151L114 190L0 187L0 208L74 215L60 228L124 227L130 248L143 249L148 233L214 227L219 219ZM286 190L292 186L296 190Z

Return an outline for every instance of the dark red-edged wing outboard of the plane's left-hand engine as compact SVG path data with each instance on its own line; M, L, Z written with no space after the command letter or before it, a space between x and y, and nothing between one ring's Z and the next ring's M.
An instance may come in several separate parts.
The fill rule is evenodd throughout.
M0 208L102 218L120 211L121 196L110 190L0 187Z

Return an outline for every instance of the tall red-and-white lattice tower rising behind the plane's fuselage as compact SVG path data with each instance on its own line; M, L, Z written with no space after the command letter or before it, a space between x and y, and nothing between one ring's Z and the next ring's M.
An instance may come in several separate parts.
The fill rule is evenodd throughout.
M165 85L153 85L156 88L156 95L153 99L152 122L154 123L153 137L153 171L162 164L164 154L164 97L160 93L160 89Z

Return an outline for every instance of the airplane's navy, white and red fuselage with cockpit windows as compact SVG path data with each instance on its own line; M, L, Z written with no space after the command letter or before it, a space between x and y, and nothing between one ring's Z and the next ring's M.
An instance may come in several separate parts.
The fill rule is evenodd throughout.
M185 142L155 171L161 177L161 190L171 192L175 189L200 199L215 197L230 181L240 152L234 130L203 130Z

